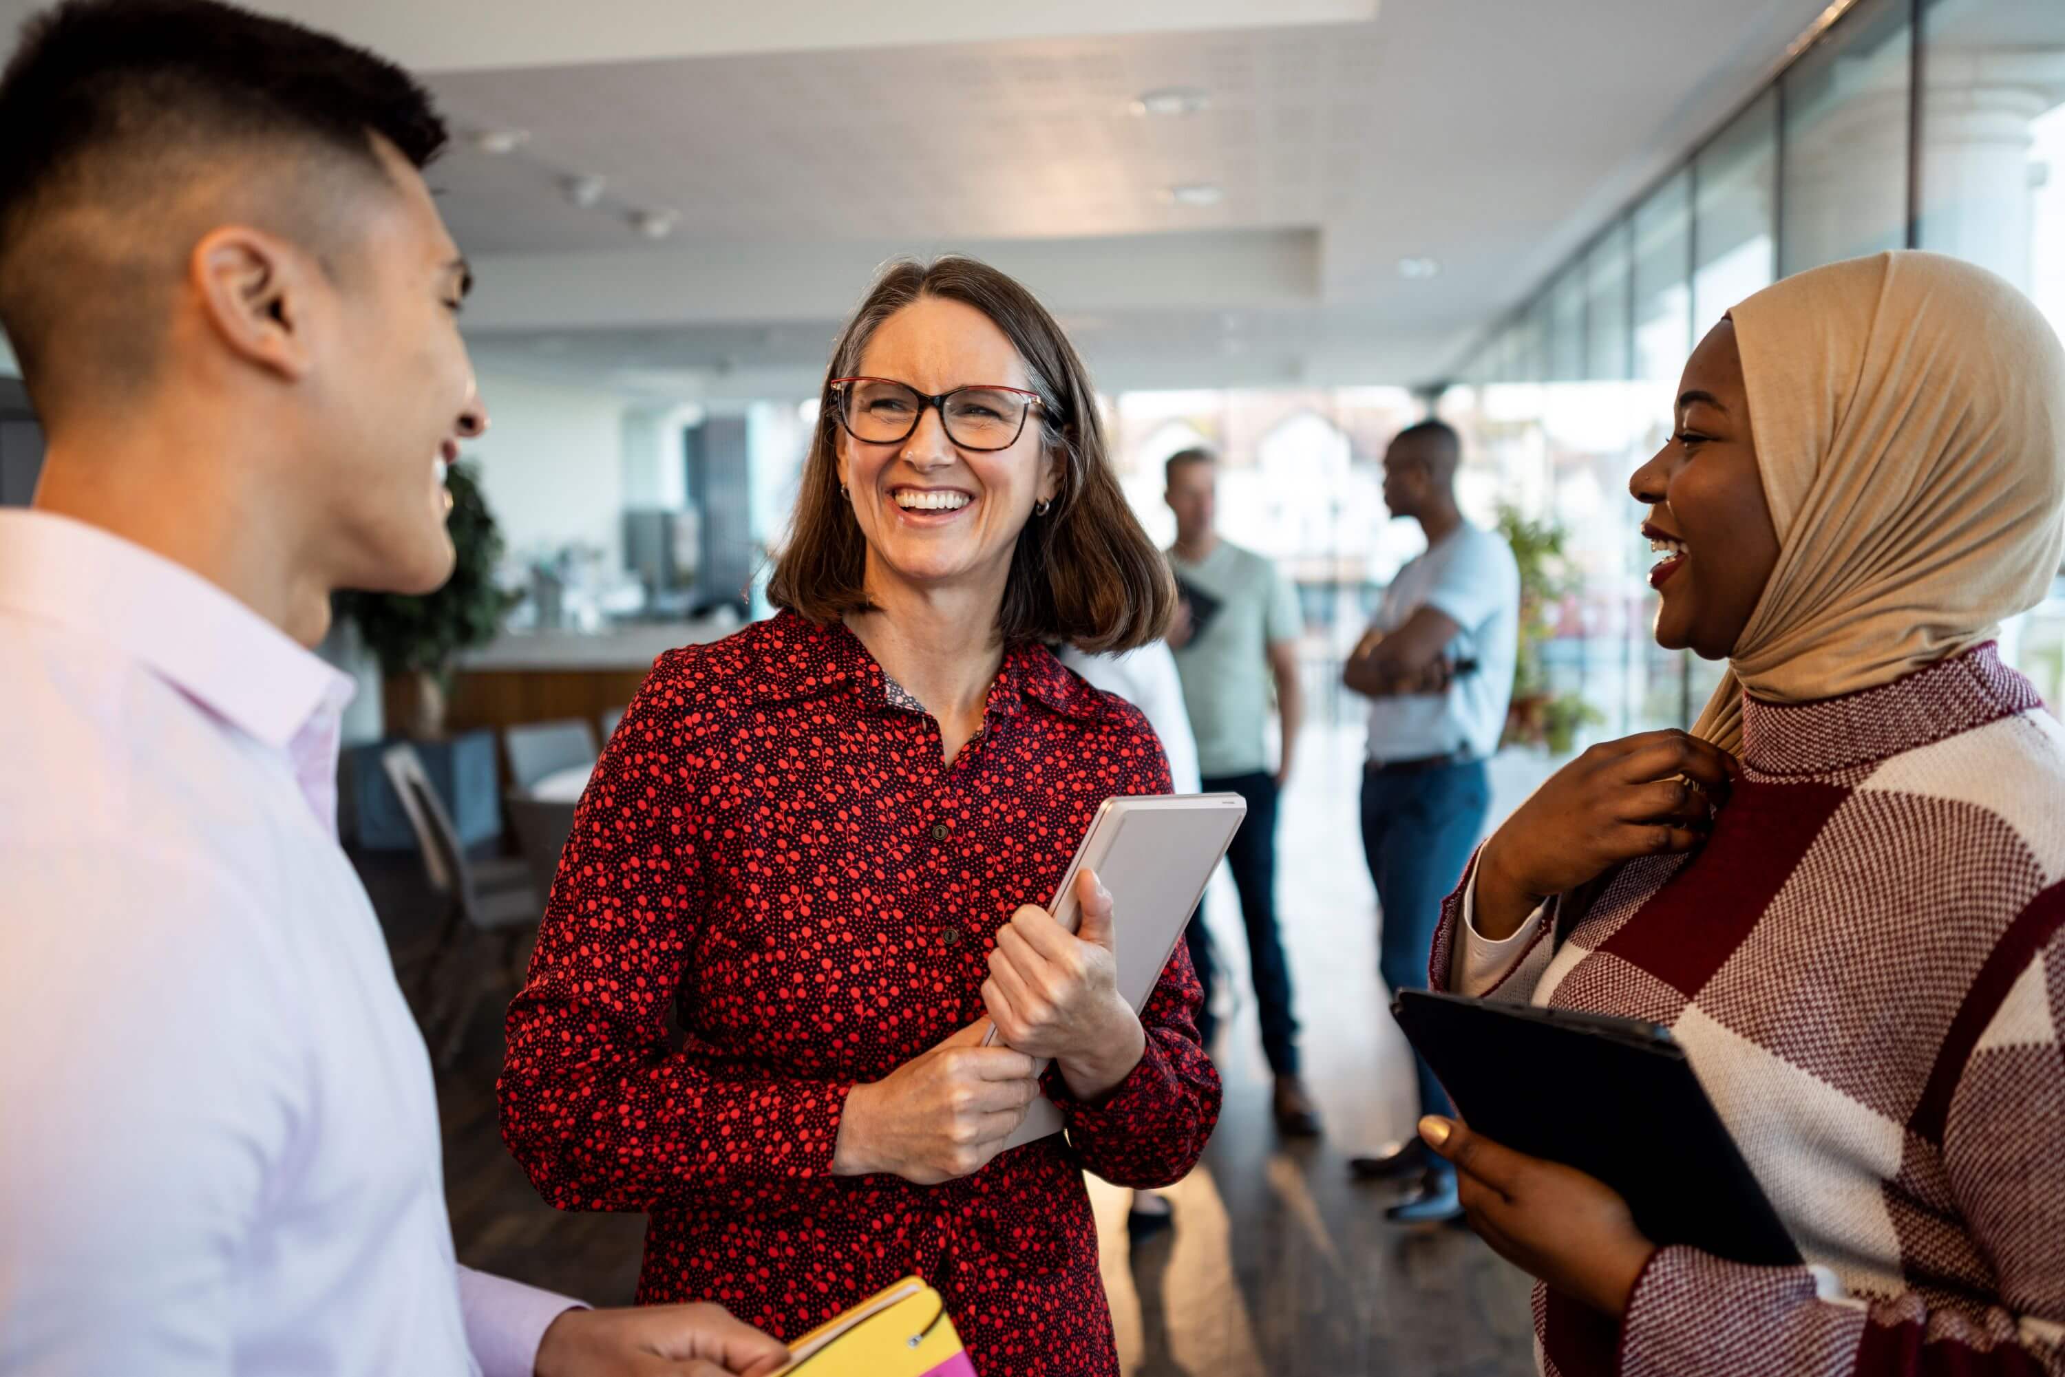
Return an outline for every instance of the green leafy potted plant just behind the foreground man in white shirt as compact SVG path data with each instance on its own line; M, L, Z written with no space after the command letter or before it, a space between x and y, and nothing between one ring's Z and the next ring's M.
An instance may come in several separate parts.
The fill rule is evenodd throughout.
M452 465L444 485L452 493L448 524L458 551L446 584L421 597L339 593L335 601L337 615L357 623L366 648L380 661L388 733L421 741L444 735L452 657L494 640L520 597L496 586L502 531L473 469Z

